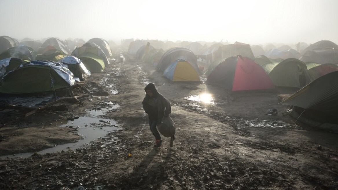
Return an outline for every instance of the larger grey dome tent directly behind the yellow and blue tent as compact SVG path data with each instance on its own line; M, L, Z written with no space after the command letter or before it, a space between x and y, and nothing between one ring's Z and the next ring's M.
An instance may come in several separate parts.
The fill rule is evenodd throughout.
M199 70L195 54L190 49L184 47L174 47L168 49L161 57L158 64L159 70L164 72L172 62L178 59L186 60L192 64L193 67L196 67L195 70ZM199 72L198 74L200 75L201 73Z

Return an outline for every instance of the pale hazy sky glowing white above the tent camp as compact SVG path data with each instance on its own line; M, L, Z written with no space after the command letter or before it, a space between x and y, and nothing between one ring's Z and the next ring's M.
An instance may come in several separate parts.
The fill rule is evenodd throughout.
M338 0L0 0L1 35L338 43Z

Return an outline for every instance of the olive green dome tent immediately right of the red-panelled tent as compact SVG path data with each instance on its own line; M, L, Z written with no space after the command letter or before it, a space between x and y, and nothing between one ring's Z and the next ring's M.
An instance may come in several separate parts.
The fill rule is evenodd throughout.
M262 68L275 86L301 88L311 81L304 62L288 58L280 63L266 63Z

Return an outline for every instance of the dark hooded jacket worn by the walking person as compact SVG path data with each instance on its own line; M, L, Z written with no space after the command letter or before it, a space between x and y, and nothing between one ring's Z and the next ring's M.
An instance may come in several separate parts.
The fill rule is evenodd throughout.
M169 116L171 113L171 106L170 102L159 92L157 92L155 85L152 83L149 83L145 88L144 91L151 90L153 96L150 97L147 93L142 101L143 110L148 113L149 118L151 117L150 114L150 105L149 105L149 99L154 98L156 107L157 107L157 122L160 123L162 121L162 118L164 116Z

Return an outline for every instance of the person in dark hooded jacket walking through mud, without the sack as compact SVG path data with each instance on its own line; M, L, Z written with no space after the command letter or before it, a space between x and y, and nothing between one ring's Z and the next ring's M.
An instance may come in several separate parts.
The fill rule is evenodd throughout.
M157 124L162 122L163 117L168 117L171 113L170 102L156 90L152 83L149 83L144 91L146 95L142 101L143 110L148 114L150 131L156 139L154 146L159 147L162 140L157 130Z

